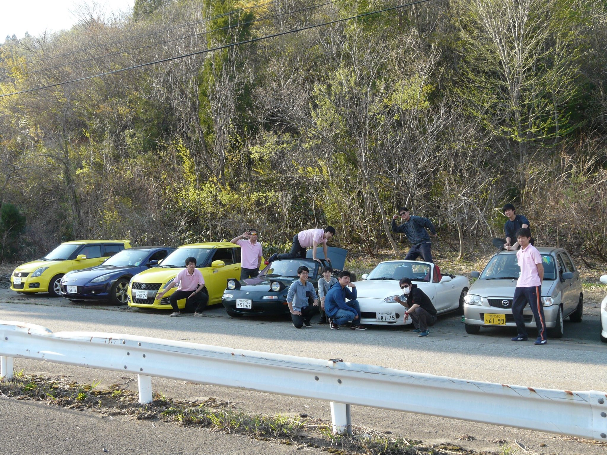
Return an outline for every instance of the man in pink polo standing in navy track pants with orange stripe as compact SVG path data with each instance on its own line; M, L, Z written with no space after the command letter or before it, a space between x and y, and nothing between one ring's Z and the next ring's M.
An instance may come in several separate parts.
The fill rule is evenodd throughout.
M544 266L541 264L540 252L530 243L531 231L528 227L518 229L517 240L521 246L521 249L517 251L521 274L518 277L517 288L512 299L512 315L514 322L517 323L518 335L512 341L527 341L523 309L529 303L538 334L534 344L545 345L546 318L544 318L544 307L541 304L541 281L544 279Z

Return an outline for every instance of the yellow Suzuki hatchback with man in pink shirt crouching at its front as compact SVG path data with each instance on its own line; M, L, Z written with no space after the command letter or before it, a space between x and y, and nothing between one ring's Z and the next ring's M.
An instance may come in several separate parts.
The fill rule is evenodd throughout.
M209 296L209 305L221 303L229 278L240 278L240 246L227 241L180 246L157 267L135 275L129 283L129 306L171 309L169 297L177 290L177 286L169 289L162 300L158 300L156 294L171 284L177 274L185 269L188 257L196 258L196 268L205 278L204 291ZM178 300L177 305L180 309L185 308L186 299Z

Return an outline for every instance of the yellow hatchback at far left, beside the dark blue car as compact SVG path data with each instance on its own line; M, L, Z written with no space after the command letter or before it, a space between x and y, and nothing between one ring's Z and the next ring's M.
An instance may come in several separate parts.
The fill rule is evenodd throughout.
M61 277L72 270L100 265L108 257L131 248L128 240L73 240L53 249L39 261L26 262L13 271L10 289L61 295Z

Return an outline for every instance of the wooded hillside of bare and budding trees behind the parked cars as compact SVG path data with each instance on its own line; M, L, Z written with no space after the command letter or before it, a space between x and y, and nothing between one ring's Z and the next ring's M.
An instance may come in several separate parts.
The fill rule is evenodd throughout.
M2 257L327 224L373 255L401 205L463 257L513 202L540 244L607 262L607 2L430 0L225 47L398 4L137 0L7 37Z

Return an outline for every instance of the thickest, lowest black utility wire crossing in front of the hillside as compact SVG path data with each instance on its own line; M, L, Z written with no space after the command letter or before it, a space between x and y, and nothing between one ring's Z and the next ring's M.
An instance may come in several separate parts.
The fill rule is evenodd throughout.
M249 44L251 42L262 41L263 39L276 38L277 36L289 35L290 33L303 32L304 30L317 29L318 27L324 27L325 25L339 24L340 22L351 21L353 19L359 19L359 18L364 18L366 16L371 16L371 15L385 13L385 12L388 12L388 11L398 10L400 8L405 8L405 7L409 7L409 6L413 6L413 5L419 5L419 4L422 4L422 3L429 2L429 1L432 1L432 0L418 0L418 1L415 1L415 2L411 2L411 3L407 3L407 4L402 4L402 5L397 5L397 6L393 6L393 7L390 7L390 8L384 8L382 10L375 10L375 11L371 11L371 12L368 12L368 13L362 13L362 14L359 14L359 15L356 15L356 16L350 16L349 18L335 19L334 21L322 22L322 24L308 25L307 27L301 27L300 29L286 30L285 32L274 33L273 35L260 36L259 38L251 38L251 39L247 39L245 41L232 42L231 44L220 45L220 46L212 47L211 49L199 50L197 52L191 52L191 53L188 53L188 54L177 55L177 56L169 57L169 58L163 58L161 60L155 60L153 62L141 63L139 65L129 66L127 68L121 68L121 69L118 69L118 70L108 71L108 72L105 72L105 73L99 73L99 74L95 74L95 75L91 75L91 76L85 76L83 78L72 79L71 81L59 82L59 83L56 83L56 84L50 84L48 86L36 87L35 89L21 90L21 92L5 93L4 95L0 95L0 98L2 98L4 96L21 95L21 93L29 93L29 92L36 92L38 90L50 89L52 87L63 86L65 84L72 84L72 83L75 83L75 82L86 81L87 79L98 78L98 77L101 77L101 76L108 76L110 74L121 73L123 71L134 70L134 69L137 69L137 68L143 68L145 66L155 65L157 63L163 63L163 62L168 62L168 61L177 60L177 59L181 59L181 58L191 57L191 56L194 56L194 55L200 55L200 54L204 54L204 53L207 53L207 52L212 52L214 50L228 49L230 47L236 47L237 45Z

